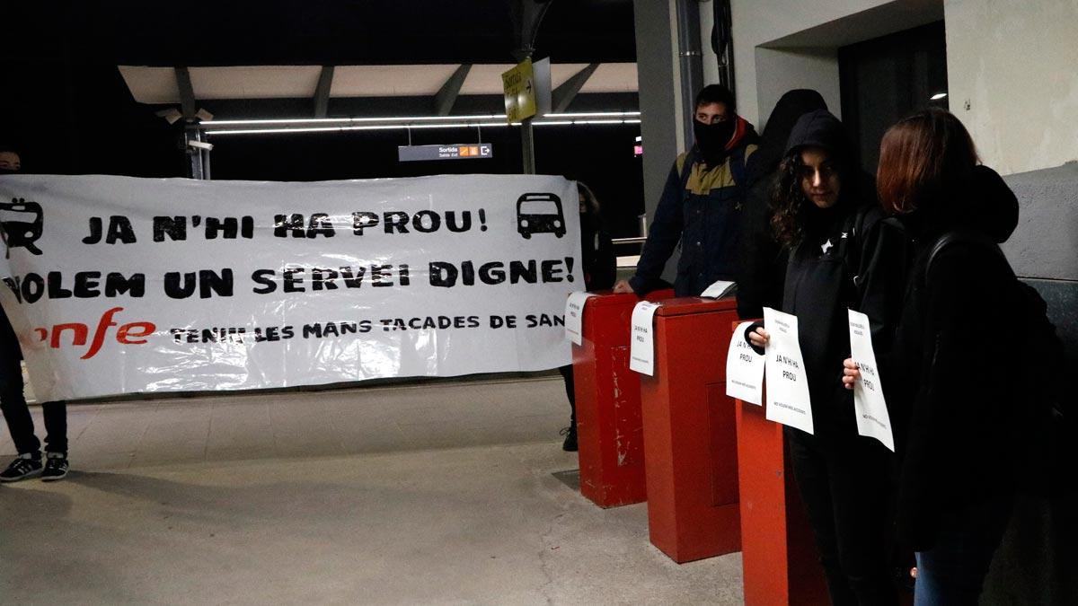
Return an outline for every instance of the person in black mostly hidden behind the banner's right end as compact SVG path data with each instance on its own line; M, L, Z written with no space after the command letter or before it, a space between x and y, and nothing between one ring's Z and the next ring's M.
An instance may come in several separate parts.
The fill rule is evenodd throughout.
M577 182L580 194L580 254L586 290L604 290L613 285L618 272L618 259L613 253L613 242L603 229L599 201L591 188ZM569 399L569 426L562 430L565 442L562 449L577 450L577 397L573 391L572 364L557 369L565 378L565 395Z

